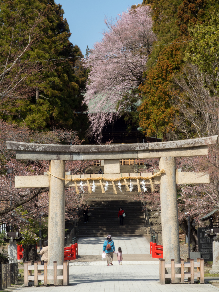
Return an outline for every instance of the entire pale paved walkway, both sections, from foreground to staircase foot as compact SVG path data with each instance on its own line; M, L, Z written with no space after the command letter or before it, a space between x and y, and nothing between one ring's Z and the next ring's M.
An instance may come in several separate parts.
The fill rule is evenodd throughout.
M166 284L159 283L159 263L144 260L149 254L149 243L145 237L114 237L114 244L122 248L123 265L113 266L106 261L92 261L102 254L104 237L80 238L79 255L89 258L87 262L69 263L70 285L50 287L25 287L14 292L213 292L219 291L210 284ZM133 259L128 260L128 255ZM138 261L138 257L142 259ZM150 256L150 255L147 255ZM100 256L101 258L101 256ZM98 259L98 258L97 258ZM80 258L78 259L80 260Z

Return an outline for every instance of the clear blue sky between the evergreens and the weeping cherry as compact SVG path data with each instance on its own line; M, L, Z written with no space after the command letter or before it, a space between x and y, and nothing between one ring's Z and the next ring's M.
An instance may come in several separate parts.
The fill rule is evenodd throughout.
M83 54L86 46L93 48L93 44L102 38L101 32L106 28L104 23L105 15L114 17L118 13L127 11L133 4L141 3L135 0L56 0L65 11L70 32L70 41L78 45Z

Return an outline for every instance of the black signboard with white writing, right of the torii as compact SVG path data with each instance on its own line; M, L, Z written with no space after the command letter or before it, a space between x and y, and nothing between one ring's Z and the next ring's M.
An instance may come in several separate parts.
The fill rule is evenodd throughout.
M205 262L213 261L213 251L212 251L212 242L213 238L208 238L205 236L206 230L209 227L198 227L198 245L199 252L201 252L201 258L204 258Z

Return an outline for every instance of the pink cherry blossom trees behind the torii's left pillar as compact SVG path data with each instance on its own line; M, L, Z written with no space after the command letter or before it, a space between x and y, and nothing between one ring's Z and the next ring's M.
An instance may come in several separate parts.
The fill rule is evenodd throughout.
M48 215L48 188L14 187L15 175L43 175L49 168L49 161L18 161L15 152L8 151L6 141L35 142L47 144L80 144L77 132L54 129L51 132L40 133L13 124L0 121L0 220L11 224L24 224L24 218L38 218L43 210ZM91 164L90 161L66 161L66 171L79 173ZM8 173L7 169L12 172ZM83 199L74 188L66 188L65 219L75 219L78 209L84 208Z

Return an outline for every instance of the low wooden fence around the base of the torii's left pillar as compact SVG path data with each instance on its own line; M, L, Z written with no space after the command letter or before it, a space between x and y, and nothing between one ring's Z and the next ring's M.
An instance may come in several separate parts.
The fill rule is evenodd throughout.
M32 270L34 270L34 275L32 275ZM41 270L44 274L41 274ZM53 270L53 276L48 276L47 271ZM63 270L63 276L57 275L57 270ZM41 262L34 262L31 265L31 261L24 262L24 286L28 286L28 281L34 280L34 286L38 285L38 281L44 280L44 285L47 285L48 280L53 280L54 286L57 285L57 280L63 280L63 286L69 284L69 261L63 262L63 265L57 265L57 262L53 262L53 266L48 266L47 262L41 265Z

